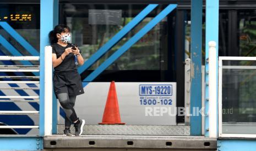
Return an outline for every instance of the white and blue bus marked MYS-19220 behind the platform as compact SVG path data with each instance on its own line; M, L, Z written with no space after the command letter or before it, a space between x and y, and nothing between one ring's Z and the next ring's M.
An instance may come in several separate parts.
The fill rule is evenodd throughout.
M91 75L115 51L127 43L141 28L148 24L163 10L167 4L177 4L177 8L157 23L138 42L131 45L126 53L115 60L93 80L86 77ZM190 57L190 1L82 1L59 0L58 24L66 24L72 28L72 43L78 44L86 61L97 50L114 37L122 28L126 27L148 4L159 4L134 26L125 36L120 37L107 53L88 68L78 67L83 80L85 94L77 98L76 108L80 117L86 119L87 125L97 125L101 122L107 99L110 82L115 81L121 119L127 125L167 125L183 126L187 129L185 115L171 116L168 114L148 116L145 107L160 107L174 109L186 107L185 60ZM205 6L205 4L204 4ZM0 2L0 22L6 22L28 42L35 50L40 51L40 1L38 0L2 0ZM220 0L219 11L219 56L255 56L256 51L256 4L253 0ZM32 55L20 42L13 37L14 33L7 31L0 25L0 55L13 55L6 42L14 47L15 53L24 56ZM205 7L203 10L203 37L205 35ZM205 53L205 39L203 38L202 54ZM204 66L204 55L202 58ZM39 65L38 62L32 62ZM23 65L18 61L2 61L1 65ZM1 72L1 76L29 76L34 73ZM4 79L1 80L10 80ZM1 87L22 87L23 84L2 84ZM38 87L30 84L28 86ZM145 91L151 86L155 91L161 91L159 96L152 96ZM167 90L167 94L162 91ZM170 91L168 91L170 89ZM142 94L140 93L143 92ZM39 90L1 90L1 95L39 95ZM146 97L143 96L146 94ZM167 95L167 96L165 96ZM227 93L226 97L238 97ZM232 102L233 107L238 102ZM253 104L255 105L255 104ZM224 106L230 106L226 103ZM39 111L39 103L0 102L0 111L12 110ZM244 113L246 116L247 113ZM244 119L233 119L243 121ZM59 108L58 125L61 129L64 112ZM15 120L14 120L15 119ZM143 120L141 120L143 119ZM230 119L226 119L227 121ZM255 115L252 121L256 121ZM3 125L38 125L39 119L35 115L0 115ZM60 130L61 132L62 130ZM35 134L34 129L0 129L0 133ZM178 133L189 135L189 132ZM171 135L168 133L168 135Z

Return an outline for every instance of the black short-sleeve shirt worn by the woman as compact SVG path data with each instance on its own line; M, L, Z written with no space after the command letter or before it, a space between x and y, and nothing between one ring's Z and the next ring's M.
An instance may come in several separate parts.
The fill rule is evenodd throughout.
M65 49L71 47L70 43L66 47L59 45L57 43L52 44L52 53L56 54L57 59L64 53ZM72 53L69 53L59 64L57 67L54 68L55 73L67 72L67 71L77 71L77 66L75 65L75 56Z

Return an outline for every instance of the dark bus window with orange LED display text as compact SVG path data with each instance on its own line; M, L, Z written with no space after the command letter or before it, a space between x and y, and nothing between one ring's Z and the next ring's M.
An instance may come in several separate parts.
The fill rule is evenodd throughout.
M0 21L7 22L7 26L12 27L15 32L20 34L39 53L40 4L0 4ZM13 33L4 30L1 26L0 35L22 55L32 55L14 39ZM0 45L0 51L2 55L13 55L2 44ZM19 61L16 63L19 65Z

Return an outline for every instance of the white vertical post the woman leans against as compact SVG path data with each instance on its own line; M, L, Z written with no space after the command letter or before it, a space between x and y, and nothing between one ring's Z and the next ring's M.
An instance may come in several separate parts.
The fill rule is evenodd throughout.
M52 47L45 47L45 136L52 135Z

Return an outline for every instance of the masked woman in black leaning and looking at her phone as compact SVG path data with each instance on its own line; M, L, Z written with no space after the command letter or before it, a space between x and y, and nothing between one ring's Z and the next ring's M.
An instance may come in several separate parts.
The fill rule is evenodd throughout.
M75 136L81 135L85 120L79 119L74 110L75 98L84 94L81 77L75 65L75 56L79 65L84 59L78 47L72 47L70 42L70 28L66 25L57 25L49 33L52 46L53 87L59 103L66 113L64 135L70 136L70 126L74 123ZM46 60L47 61L47 60Z

